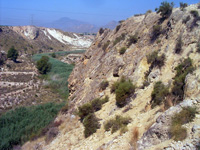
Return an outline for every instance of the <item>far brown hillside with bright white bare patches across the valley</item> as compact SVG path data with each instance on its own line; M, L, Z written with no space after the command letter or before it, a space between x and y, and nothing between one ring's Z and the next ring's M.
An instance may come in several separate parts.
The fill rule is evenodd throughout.
M26 54L88 48L93 41L92 37L35 26L1 26L0 40L0 50L15 46Z

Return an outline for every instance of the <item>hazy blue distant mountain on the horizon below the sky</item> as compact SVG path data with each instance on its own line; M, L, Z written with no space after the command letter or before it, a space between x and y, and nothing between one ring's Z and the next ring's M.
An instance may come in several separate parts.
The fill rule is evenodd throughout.
M109 29L114 29L117 25L116 21L111 21L108 24L102 26L103 28L109 28ZM87 22L79 21L79 20L74 20L70 19L67 17L60 18L56 21L42 24L42 25L37 25L37 26L43 26L43 27L48 27L48 28L56 28L56 29L61 29L63 31L68 31L68 32L76 32L76 33L96 33L98 32L100 26L96 26Z

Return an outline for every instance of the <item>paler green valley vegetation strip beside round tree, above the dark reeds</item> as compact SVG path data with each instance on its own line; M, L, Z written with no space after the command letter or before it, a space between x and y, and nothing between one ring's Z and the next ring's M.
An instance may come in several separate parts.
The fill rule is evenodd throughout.
M84 52L83 50L79 51ZM76 53L79 53L76 52ZM57 56L71 54L72 52L55 52ZM38 61L42 56L51 56L51 53L36 54L32 57L34 61ZM67 98L68 90L68 77L73 70L73 65L61 62L58 59L49 57L49 62L52 64L50 72L47 73L46 80L48 81L46 87L58 92L62 98Z

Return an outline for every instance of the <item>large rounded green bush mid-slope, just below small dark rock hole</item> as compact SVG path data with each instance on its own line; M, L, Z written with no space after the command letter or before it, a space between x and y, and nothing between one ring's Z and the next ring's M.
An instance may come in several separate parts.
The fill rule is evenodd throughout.
M120 82L115 90L116 105L118 107L124 107L127 103L127 98L135 92L135 86L131 81Z

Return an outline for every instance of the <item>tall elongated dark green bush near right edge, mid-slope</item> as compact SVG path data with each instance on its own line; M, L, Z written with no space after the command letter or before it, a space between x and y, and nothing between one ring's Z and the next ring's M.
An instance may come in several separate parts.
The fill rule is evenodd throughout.
M184 59L175 70L176 75L173 82L172 94L178 98L178 101L182 101L184 97L185 78L187 74L192 73L194 70L192 60L190 58Z

